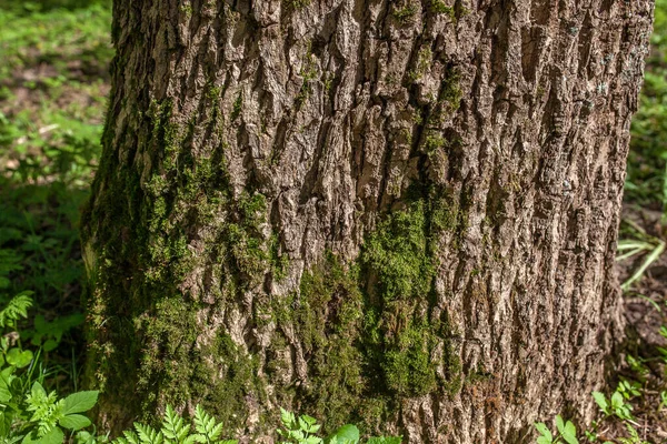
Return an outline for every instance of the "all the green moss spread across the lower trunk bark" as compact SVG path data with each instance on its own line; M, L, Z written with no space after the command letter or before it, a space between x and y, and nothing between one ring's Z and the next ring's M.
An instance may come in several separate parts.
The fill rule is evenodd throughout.
M216 94L210 90L209 100ZM241 105L239 93L232 119ZM169 101L149 108L141 150L153 157L147 162L151 171L109 155L98 182L109 188L101 194L104 201L88 213L99 224L94 234L102 265L97 266L107 266L98 282L103 292L91 304L98 337L92 353L103 369L101 377L118 387L118 398L137 385L137 397L148 400L145 412L165 402L201 402L230 426L242 426L247 400L267 404L266 381L257 376L260 359L237 346L223 329L202 343L198 316L211 303L222 310L237 304L268 273L282 279L287 255L280 252L278 233L268 233L267 198L251 189L232 192L225 143L193 157L189 143L197 122L175 123ZM206 124L217 130L219 121ZM326 417L331 427L355 420L377 427L405 397L460 387L451 332L446 322L429 316L435 240L442 231L458 230L465 218L445 195L424 185L405 199L404 210L381 216L357 263L344 264L328 254L303 273L299 292L255 292L251 327L278 326L261 356L268 375L292 365L283 351L293 345L281 329L292 329L308 363L301 385L276 383L281 402L289 405L298 396L303 410ZM206 250L192 254L199 236L208 236ZM188 294L185 278L193 268L210 271L213 284L206 296L212 295L212 302ZM140 374L132 373L137 362Z

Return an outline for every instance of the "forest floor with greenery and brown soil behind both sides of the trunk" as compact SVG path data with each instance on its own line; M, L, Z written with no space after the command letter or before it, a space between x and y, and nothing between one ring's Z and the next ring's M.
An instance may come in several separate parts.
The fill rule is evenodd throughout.
M644 270L625 292L629 340L613 382L640 386L630 424L654 443L667 442L667 0L657 3L620 234L635 254L619 279ZM100 154L110 17L110 0L0 0L0 302L34 292L21 333L59 391L77 390L83 352L79 209ZM600 436L627 425L604 416Z

